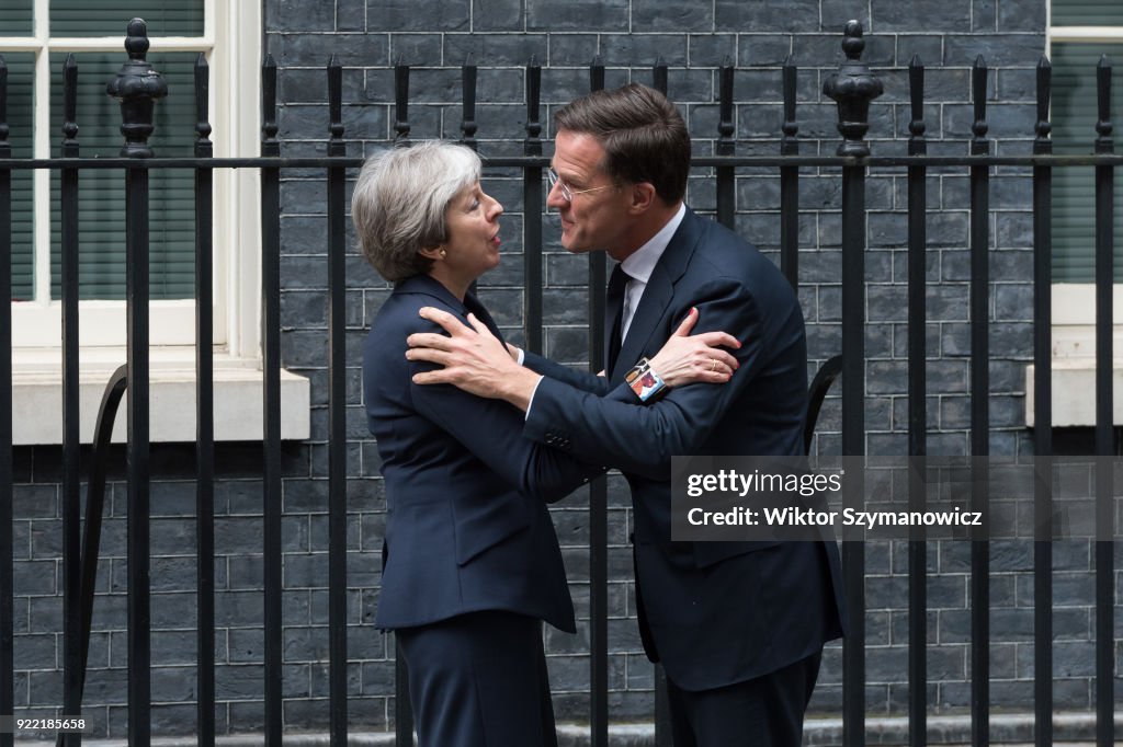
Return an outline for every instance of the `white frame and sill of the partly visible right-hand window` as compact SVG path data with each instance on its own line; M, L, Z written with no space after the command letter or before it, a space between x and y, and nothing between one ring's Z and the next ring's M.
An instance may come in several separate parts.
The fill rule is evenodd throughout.
M1123 26L1053 26L1052 2L1047 3L1046 49L1054 43L1123 44ZM1113 61L1119 65L1123 61ZM1092 75L1093 71L1088 71ZM1089 126L1088 131L1092 131ZM1116 123L1116 138L1121 132ZM1116 195L1117 197L1119 195ZM1116 240L1121 240L1116 237ZM1113 379L1116 424L1123 424L1123 284L1113 289ZM1052 424L1054 427L1096 423L1096 286L1093 283L1054 283L1052 286ZM1033 426L1033 366L1025 376L1025 421Z

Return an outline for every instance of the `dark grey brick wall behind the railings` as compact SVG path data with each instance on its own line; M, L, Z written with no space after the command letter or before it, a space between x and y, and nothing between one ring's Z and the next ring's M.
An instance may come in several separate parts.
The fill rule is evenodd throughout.
M738 153L778 153L780 70L791 55L800 66L797 118L802 153L831 154L838 141L832 102L820 92L842 58L841 30L856 18L866 29L864 59L885 82L870 113L875 154L904 154L909 135L906 66L914 54L928 65L925 119L929 151L962 155L970 138L970 66L990 66L989 132L994 151L1028 153L1033 137L1033 68L1046 50L1044 0L265 0L266 48L280 68L282 151L322 154L327 138L326 75L330 55L344 70L344 125L348 154L383 147L394 135L392 65L413 67L409 119L414 138L459 136L459 65L478 65L476 121L485 155L520 154L524 137L523 66L544 66L544 137L555 107L587 91L587 65L601 55L606 84L650 81L660 57L669 65L669 95L682 105L699 154L712 153L718 132L718 66L738 66L734 83ZM809 371L839 349L840 179L837 170L801 174L801 290L809 323ZM1031 357L1031 182L1024 170L996 169L992 181L990 437L994 453L1025 453L1024 368ZM510 336L521 339L523 215L518 174L490 172L486 186L506 205L503 265L482 279L481 295ZM929 452L968 449L969 213L962 169L929 176L928 411ZM867 446L873 454L906 449L905 188L900 170L868 181ZM690 203L714 208L713 183L696 169ZM327 725L327 270L326 199L320 174L287 173L282 188L283 358L312 380L312 439L287 444L284 507L285 722L292 731ZM737 229L775 257L778 178L774 172L739 174ZM546 219L544 315L546 352L573 365L587 360L586 265L557 246ZM354 242L351 241L351 245ZM372 627L377 603L383 496L375 444L366 432L359 380L364 330L387 287L354 253L348 264L348 525L350 719L356 730L392 723L390 640ZM816 449L839 449L839 407L829 400ZM154 731L192 734L194 609L192 450L154 446L153 583ZM124 458L118 452L111 514L106 522L101 592L94 618L86 714L95 735L125 729L125 517ZM60 455L57 449L19 449L15 495L17 709L46 710L61 701ZM262 722L261 455L253 444L220 445L217 486L219 729L255 731ZM557 505L554 517L572 579L576 636L547 630L559 720L587 713L588 589L586 499ZM630 584L627 488L611 479L609 513L610 709L614 721L647 721L652 671L641 653ZM1054 548L1054 694L1060 710L1088 710L1093 698L1092 557L1088 545ZM969 547L929 547L929 701L938 712L969 704ZM867 547L867 675L870 716L901 714L906 706L906 548ZM1032 700L1032 569L1026 545L996 543L992 551L992 702L1022 709ZM1123 590L1123 582L1119 584ZM1116 610L1116 620L1123 615ZM1123 622L1117 622L1123 633ZM841 657L824 658L812 711L841 708ZM1117 688L1116 692L1123 692Z

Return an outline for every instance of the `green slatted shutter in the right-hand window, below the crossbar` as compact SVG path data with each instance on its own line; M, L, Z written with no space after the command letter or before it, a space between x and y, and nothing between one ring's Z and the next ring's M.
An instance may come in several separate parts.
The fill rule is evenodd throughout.
M1123 144L1123 44L1056 43L1052 47L1052 137L1058 154L1093 153L1096 140L1096 66L1106 54L1114 62L1111 119ZM1123 168L1115 169L1115 282L1123 282ZM1095 279L1095 170L1053 169L1053 282Z

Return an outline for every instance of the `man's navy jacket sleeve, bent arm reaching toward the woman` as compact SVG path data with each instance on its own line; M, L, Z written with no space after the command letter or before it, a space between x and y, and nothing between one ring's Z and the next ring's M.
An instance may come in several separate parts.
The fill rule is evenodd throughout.
M733 353L740 368L729 382L678 387L654 405L640 406L626 386L597 396L546 378L535 394L523 433L558 443L581 459L669 479L670 458L691 454L703 444L730 403L752 386L775 353L773 347L792 343L765 339L760 308L732 279L711 280L692 301L700 312L699 332L724 330L742 343Z

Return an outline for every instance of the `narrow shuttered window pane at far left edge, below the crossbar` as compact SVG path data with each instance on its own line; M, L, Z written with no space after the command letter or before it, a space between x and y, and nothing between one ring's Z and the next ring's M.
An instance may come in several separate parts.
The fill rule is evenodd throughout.
M34 101L31 76L35 57L31 53L8 53L8 142L16 158L30 158L34 133L31 112ZM11 294L15 301L30 301L35 288L35 260L33 248L34 211L31 209L31 172L11 173Z

